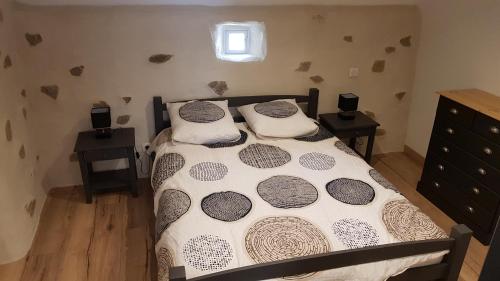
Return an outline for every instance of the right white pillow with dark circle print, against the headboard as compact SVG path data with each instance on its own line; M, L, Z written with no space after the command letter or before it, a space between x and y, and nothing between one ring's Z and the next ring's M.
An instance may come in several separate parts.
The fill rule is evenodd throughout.
M293 99L244 105L238 111L261 138L296 138L318 131Z

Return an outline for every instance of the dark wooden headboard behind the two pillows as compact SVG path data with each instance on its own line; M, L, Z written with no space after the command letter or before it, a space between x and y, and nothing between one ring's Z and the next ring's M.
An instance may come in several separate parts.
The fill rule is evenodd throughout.
M197 99L200 101L218 101L227 100L229 107L238 107L242 105L268 102L279 99L295 99L297 103L307 103L307 116L316 119L318 115L318 98L319 90L316 88L309 89L308 95L263 95L263 96L240 96L240 97L217 97L208 99ZM182 101L178 101L182 102ZM164 118L164 111L167 111L167 105L162 101L161 97L153 97L153 110L155 119L155 135L158 135L163 129L170 127L170 120ZM168 114L166 114L168 118ZM243 117L235 117L235 122L244 122Z

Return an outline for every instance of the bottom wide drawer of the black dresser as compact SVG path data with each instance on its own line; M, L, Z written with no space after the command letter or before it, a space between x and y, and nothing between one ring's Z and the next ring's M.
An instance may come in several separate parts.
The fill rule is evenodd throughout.
M484 210L460 193L452 184L440 178L423 177L421 185L429 192L441 197L467 220L472 221L484 231L490 231L495 213Z

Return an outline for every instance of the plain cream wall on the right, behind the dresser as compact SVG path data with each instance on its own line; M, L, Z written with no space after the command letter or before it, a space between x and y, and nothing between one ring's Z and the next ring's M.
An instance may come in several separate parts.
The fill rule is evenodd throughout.
M406 144L425 156L438 90L500 95L500 1L421 0L422 27Z

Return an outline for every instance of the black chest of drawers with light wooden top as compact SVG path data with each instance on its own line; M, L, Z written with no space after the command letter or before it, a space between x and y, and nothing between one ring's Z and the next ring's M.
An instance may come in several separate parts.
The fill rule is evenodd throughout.
M499 216L500 97L475 89L438 94L417 190L489 244Z

